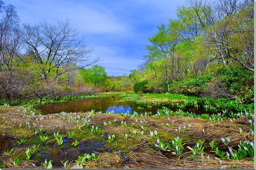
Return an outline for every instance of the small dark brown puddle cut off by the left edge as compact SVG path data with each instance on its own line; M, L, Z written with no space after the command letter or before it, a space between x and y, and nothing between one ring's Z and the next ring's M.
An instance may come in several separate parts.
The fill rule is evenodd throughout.
M13 135L1 135L0 136L0 154L4 151L11 150L18 141L18 138Z

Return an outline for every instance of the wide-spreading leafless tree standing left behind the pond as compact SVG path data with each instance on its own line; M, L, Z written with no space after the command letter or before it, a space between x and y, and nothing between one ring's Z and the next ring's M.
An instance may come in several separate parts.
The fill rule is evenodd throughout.
M51 25L45 20L34 26L24 24L22 41L29 53L22 61L46 82L99 60L90 59L88 54L92 49L86 46L84 37L79 38L76 30L70 27L68 19L58 22L58 25ZM36 63L37 67L32 67L31 62ZM70 63L72 67L69 67Z

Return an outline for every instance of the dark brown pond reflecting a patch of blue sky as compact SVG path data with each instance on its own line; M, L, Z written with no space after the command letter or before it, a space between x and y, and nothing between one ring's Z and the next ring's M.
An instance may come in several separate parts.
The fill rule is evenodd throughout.
M82 100L73 100L73 101L67 101L67 102L60 102L60 103L50 103L46 104L44 106L40 106L38 109L42 112L42 114L52 114L52 113L60 113L62 111L64 112L86 112L86 111L112 111L114 110L116 114L122 112L125 113L126 111L129 111L132 113L133 111L136 111L138 113L145 113L146 112L152 112L152 114L156 114L157 109L161 109L163 106L172 109L173 111L176 111L177 106L171 106L168 104L162 104L162 105L151 105L151 108L148 108L144 105L138 105L129 101L124 101L125 98L113 96L113 97L99 97L99 98L88 98L88 99L82 99ZM138 106L142 107L143 109L138 109ZM186 106L182 108L185 112L193 112L197 114L206 113L203 109L195 108L193 106Z

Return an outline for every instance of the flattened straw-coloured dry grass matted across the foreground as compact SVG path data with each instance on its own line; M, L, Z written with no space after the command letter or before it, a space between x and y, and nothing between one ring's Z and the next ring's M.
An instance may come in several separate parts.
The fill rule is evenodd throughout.
M6 117L6 120L10 121L11 117L16 118L17 124L25 124L27 121L35 122L35 118L24 118L17 113L15 110L17 108L3 108L0 110L0 116L2 119L3 116ZM10 113L9 113L10 111ZM51 114L50 114L51 115ZM47 115L48 117L50 115ZM77 113L80 117L87 116L88 113ZM44 115L45 117L46 115ZM52 116L56 116L52 114ZM36 117L39 117L36 115ZM117 119L116 124L108 125L105 127L103 122L110 122L114 119ZM144 130L144 135L140 135L140 131L142 130L140 124L135 122L135 119L140 122L147 121L145 124L146 130ZM172 127L162 126L166 123L172 125L172 120L174 120ZM134 127L130 128L127 132L127 127L120 127L121 121L126 122L127 124L134 123ZM113 152L102 152L100 155L100 159L95 161L86 162L83 164L84 168L220 168L222 166L226 166L226 168L231 168L230 164L233 166L237 165L239 168L253 168L254 163L252 159L244 159L240 161L236 160L228 160L221 159L222 164L220 164L219 160L215 159L214 152L210 152L209 142L215 140L218 142L220 147L223 147L224 144L221 143L221 138L230 138L231 141L226 146L236 147L240 141L254 140L253 137L250 136L250 125L248 123L248 117L237 118L235 122L231 123L229 120L221 121L220 124L214 124L208 122L204 119L200 118L191 118L191 117L181 117L181 116L170 116L169 120L164 117L155 118L155 117L135 117L135 118L127 118L118 116L116 114L95 114L91 119L92 124L98 124L101 129L103 129L107 134L116 135L116 147L121 148L121 150L113 151ZM62 131L71 131L72 129L79 126L76 122L68 122L67 120L63 120L60 117L55 117L52 119L44 119L36 123L37 128L40 125L44 125L44 129L46 129L47 133L52 133L58 130ZM81 124L81 122L80 122ZM183 125L188 127L188 124L191 125L190 129L186 129L186 131L182 131L181 133L177 133L175 129L178 129L179 126L181 128ZM7 133L11 129L13 129L13 124L1 124L0 132ZM15 127L17 128L17 127ZM239 133L239 128L243 129L242 133ZM132 129L137 129L136 138L132 138L131 131ZM184 146L193 145L197 142L198 139L205 140L204 145L207 145L208 150L205 149L205 154L210 154L211 159L208 160L206 156L204 158L201 157L190 157L190 153L183 153L183 156L177 157L171 154L161 153L153 147L154 143L156 143L156 138L149 138L149 131L157 130L159 136L163 140L169 140L173 137L179 136L183 139ZM124 134L129 133L128 141L124 141ZM22 136L24 134L14 134L16 136ZM109 144L110 145L110 144ZM123 145L118 146L118 145ZM113 147L113 145L109 146ZM115 147L115 146L114 146ZM187 149L185 147L185 149ZM189 152L189 151L188 151ZM77 155L79 156L79 155ZM12 165L13 159L8 157L1 157L0 160L3 159L6 162L6 166L8 168L15 168ZM76 163L70 164L70 167L75 166ZM42 166L36 166L33 161L22 161L19 168L41 168Z

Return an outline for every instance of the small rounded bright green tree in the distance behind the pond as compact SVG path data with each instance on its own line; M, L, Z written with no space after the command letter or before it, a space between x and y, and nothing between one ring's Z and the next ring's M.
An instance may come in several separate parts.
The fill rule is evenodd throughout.
M84 82L93 86L103 86L107 80L105 68L97 65L87 70L81 70L81 75L84 78Z

